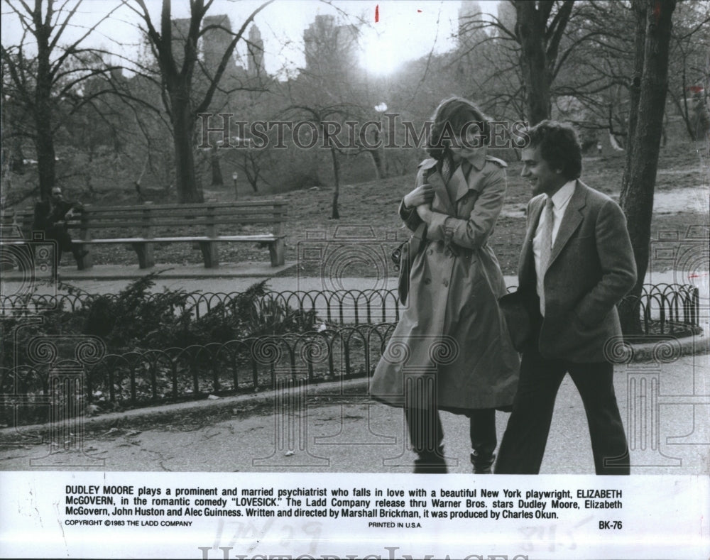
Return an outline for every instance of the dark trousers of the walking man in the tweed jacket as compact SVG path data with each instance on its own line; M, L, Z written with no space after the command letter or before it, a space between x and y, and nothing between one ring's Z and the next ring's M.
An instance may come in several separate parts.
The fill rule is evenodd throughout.
M523 351L513 412L498 450L496 474L537 474L545 454L555 397L564 374L579 390L589 423L597 474L629 474L628 445L616 403L611 363L572 363Z

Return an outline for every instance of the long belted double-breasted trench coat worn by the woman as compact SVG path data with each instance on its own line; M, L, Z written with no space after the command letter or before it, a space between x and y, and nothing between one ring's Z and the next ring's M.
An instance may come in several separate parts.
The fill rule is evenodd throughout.
M505 281L487 243L506 195L506 163L485 148L466 161L468 177L459 165L449 180L455 200L436 160L419 165L416 186L434 186L435 214L410 271L408 305L371 380L371 396L388 405L436 402L465 414L513 403L520 361L498 306ZM412 231L421 224L404 202L400 217Z

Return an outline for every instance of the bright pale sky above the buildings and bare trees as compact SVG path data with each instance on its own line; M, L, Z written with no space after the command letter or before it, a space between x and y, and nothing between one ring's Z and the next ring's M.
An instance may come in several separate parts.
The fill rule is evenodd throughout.
M2 43L6 46L16 45L21 38L18 22L7 1L2 2L1 19ZM161 1L147 0L147 3L153 21L158 23ZM67 42L80 37L119 4L115 0L84 0L74 18L75 26L67 29ZM208 15L226 13L236 29L259 4L261 2L255 0L215 0ZM480 4L484 12L495 13L498 1L481 1ZM376 6L379 6L378 22L375 21ZM425 55L432 48L437 52L452 48L452 34L457 30L460 6L461 2L457 0L346 0L334 1L332 5L318 0L277 0L256 16L256 24L261 29L266 70L270 73L303 65L303 30L317 14L332 14L340 23L363 23L363 64L372 72L386 73L407 60ZM187 16L189 2L173 1L173 18ZM136 28L138 23L136 13L121 6L97 28L87 40L87 46L102 46L130 57L138 52L141 43L141 32ZM240 48L242 53L246 52L243 43Z

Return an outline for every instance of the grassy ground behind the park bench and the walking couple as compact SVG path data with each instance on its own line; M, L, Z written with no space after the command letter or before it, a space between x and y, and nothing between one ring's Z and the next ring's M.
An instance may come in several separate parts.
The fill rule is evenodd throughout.
M624 154L614 153L584 159L582 180L591 187L610 194L618 199L623 175ZM519 162L510 162L508 167L508 197L503 214L498 219L496 231L491 238L491 245L501 263L503 273L514 274L518 264L520 245L525 233L525 218L523 209L530 199L530 190L527 182L520 177L521 165ZM403 229L397 215L397 207L404 194L409 192L414 184L415 170L409 175L388 177L383 180L373 180L355 185L342 185L339 197L341 219L329 219L332 187L319 187L317 190L297 190L280 194L288 200L287 233L287 262L297 260L297 246L306 241L307 232L321 231L328 239L355 236L357 243L362 245L375 243L382 244L380 253L387 258L391 249L399 241L408 236L408 231ZM692 143L677 143L673 146L662 148L659 172L657 175L656 192L665 194L668 198L670 192L677 192L678 196L687 196L694 188L707 183L703 180L699 155ZM264 195L271 196L271 195ZM234 197L231 186L219 190L205 190L205 197L221 201L229 201ZM255 199L257 195L245 195L242 200ZM103 199L103 202L102 202ZM660 196L657 197L657 200ZM156 201L160 202L160 201ZM107 192L95 204L136 204L134 193L126 191L124 195L116 196L116 192ZM680 237L684 235L689 226L708 224L708 216L690 208L683 212L665 212L658 203L652 223L652 238L656 238L658 231L678 230ZM256 231L267 231L268 228ZM244 230L246 231L246 229ZM178 233L178 232L175 232ZM235 232L236 233L236 232ZM310 243L310 241L307 241ZM132 250L121 247L92 248L95 264L119 264L137 266L137 258ZM67 256L65 264L69 262ZM200 251L191 250L186 243L157 246L155 260L158 263L201 263ZM266 248L249 247L242 243L224 244L220 248L222 263L239 263L243 261L268 262ZM667 266L667 264L665 265ZM350 260L343 259L339 263L338 273L342 276L371 276L378 274L378 267L367 259L358 258L356 255ZM286 275L295 275L292 268ZM319 275L319 263L301 263L301 275Z

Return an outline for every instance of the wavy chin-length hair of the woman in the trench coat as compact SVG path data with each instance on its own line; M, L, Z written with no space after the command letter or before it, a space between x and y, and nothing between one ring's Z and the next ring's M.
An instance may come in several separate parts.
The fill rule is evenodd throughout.
M479 106L463 97L444 99L432 115L432 132L427 138L427 153L437 160L444 157L447 147L442 143L444 133L459 134L465 131L469 123L476 123L481 128L481 142L487 143L491 135L488 117Z

